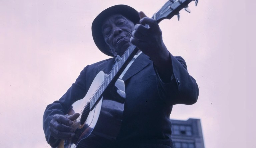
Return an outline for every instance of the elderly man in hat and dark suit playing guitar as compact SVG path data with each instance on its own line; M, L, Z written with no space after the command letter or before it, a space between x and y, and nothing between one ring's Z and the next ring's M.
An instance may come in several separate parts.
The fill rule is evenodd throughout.
M116 139L102 147L172 148L172 106L194 104L199 94L184 59L167 50L154 19L126 5L102 11L92 23L92 35L96 46L114 58L87 65L60 100L47 106L43 117L47 142L56 147L59 139L74 137L71 124L79 114L66 115L67 110L86 95L96 74L109 73L115 59L133 44L139 52L121 74L126 92L121 128Z

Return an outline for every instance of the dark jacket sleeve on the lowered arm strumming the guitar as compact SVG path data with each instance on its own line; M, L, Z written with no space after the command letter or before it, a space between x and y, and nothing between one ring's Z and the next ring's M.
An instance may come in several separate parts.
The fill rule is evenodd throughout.
M85 85L86 77L86 66L80 73L79 77L76 79L76 82L67 90L67 92L58 100L54 101L52 104L49 104L43 115L43 130L45 133L45 138L48 144L52 147L57 147L60 139L54 139L50 134L50 122L53 115L65 115L68 112L70 106L77 100L84 98L85 94L88 91Z

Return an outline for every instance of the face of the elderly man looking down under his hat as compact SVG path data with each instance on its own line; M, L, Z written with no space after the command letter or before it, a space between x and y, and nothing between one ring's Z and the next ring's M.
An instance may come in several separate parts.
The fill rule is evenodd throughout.
M129 47L133 30L133 22L120 14L112 15L103 22L102 34L114 56L122 56Z

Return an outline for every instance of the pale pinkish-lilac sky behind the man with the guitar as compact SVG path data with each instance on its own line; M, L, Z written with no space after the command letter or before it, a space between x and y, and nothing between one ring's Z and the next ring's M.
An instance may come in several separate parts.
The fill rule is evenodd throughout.
M126 4L149 17L167 0L0 0L0 147L45 148L42 117L88 64L93 19ZM201 119L206 148L255 148L255 2L203 1L160 23L164 42L199 85L198 102L170 118Z

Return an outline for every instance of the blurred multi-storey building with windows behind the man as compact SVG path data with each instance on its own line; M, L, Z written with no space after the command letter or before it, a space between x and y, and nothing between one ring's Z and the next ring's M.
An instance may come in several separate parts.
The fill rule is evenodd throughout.
M175 148L204 148L200 119L172 120L172 141Z

